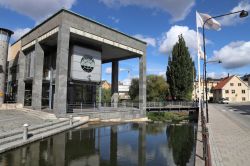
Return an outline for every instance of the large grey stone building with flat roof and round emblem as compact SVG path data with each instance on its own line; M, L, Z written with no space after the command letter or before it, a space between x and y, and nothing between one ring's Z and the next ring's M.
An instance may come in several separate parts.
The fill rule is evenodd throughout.
M8 91L24 106L64 114L69 106L80 102L98 102L103 63L112 63L111 89L113 98L117 96L119 61L130 58L139 58L139 101L143 113L146 43L62 9L11 46Z

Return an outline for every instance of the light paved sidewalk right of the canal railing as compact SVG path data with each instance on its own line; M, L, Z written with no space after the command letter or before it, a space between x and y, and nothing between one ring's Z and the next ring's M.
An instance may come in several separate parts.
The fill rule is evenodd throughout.
M250 116L230 105L209 105L213 166L250 165ZM250 107L249 107L250 109Z

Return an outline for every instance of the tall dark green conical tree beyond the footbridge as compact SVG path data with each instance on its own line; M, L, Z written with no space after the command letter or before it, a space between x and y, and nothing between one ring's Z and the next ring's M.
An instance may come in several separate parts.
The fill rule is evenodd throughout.
M182 35L169 56L166 76L172 99L191 100L195 67Z

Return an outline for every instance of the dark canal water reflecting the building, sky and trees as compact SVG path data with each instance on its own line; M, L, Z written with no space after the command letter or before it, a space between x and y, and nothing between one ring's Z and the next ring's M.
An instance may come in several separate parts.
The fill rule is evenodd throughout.
M0 165L191 165L193 127L128 123L75 129L2 154Z

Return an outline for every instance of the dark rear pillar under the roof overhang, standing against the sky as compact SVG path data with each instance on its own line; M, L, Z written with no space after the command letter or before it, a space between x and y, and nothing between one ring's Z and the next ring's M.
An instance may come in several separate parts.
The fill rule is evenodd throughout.
M111 84L111 103L114 104L114 107L117 107L119 95L118 95L118 80L119 80L119 62L112 62L112 84Z

